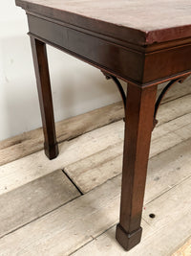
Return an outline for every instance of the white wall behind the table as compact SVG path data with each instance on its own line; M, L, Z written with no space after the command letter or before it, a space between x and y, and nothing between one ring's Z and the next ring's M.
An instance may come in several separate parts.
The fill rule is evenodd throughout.
M0 140L41 127L25 12L13 0L0 6ZM96 68L48 47L55 120L120 100Z

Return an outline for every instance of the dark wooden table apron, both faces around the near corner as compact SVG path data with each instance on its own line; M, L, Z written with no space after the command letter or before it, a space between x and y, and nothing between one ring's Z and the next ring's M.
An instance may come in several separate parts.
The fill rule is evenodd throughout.
M167 42L165 49L148 53L149 46L138 51L115 43L115 38L107 40L102 35L85 33L77 27L75 30L46 17L28 13L28 22L34 37L124 81L145 86L191 73L191 43L168 48Z

